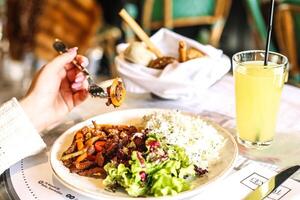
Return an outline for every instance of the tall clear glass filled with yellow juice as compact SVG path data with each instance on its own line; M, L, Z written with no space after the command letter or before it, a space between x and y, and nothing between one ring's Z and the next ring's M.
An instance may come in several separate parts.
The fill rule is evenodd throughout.
M265 51L251 50L232 57L235 79L238 141L250 148L269 146L274 139L281 91L288 76L288 59Z

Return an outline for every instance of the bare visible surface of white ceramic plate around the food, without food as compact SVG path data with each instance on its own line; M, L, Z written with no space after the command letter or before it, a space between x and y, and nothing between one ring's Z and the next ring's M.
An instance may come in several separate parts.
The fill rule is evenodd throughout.
M194 189L179 193L176 196L166 196L166 197L144 197L144 198L131 198L124 191L117 191L115 193L106 191L101 179L88 178L79 176L75 173L70 173L69 169L66 168L60 161L62 153L71 145L74 131L82 128L85 125L91 125L92 120L95 120L100 124L139 124L142 117L146 114L153 113L155 111L167 112L169 110L162 109L131 109L116 111L111 113L105 113L94 118L88 119L81 122L66 132L64 132L53 144L50 155L50 164L55 176L60 180L66 187L91 198L95 199L186 199L188 197L194 196L199 192L205 190L205 188L220 180L222 177L233 168L234 162L237 159L238 148L234 138L229 132L227 132L222 127L209 122L213 125L218 133L223 135L226 139L226 144L220 153L220 160L210 166L210 171L206 176L197 178L193 181Z

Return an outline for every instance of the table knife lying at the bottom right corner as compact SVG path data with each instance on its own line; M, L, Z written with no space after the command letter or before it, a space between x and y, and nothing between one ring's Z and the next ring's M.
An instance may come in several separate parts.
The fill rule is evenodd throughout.
M291 175L298 171L299 168L300 165L295 165L279 172L277 175L271 177L268 181L258 186L255 190L248 194L244 198L244 200L261 200L265 198L278 186L280 186L286 179L288 179Z

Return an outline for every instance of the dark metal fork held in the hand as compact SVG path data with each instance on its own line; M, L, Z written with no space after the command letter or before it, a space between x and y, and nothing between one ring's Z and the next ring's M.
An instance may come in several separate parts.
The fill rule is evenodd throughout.
M68 47L59 39L55 39L53 43L53 48L59 53L63 54L68 51ZM80 70L82 71L88 81L88 92L91 94L92 97L100 97L100 98L108 98L108 94L102 87L98 86L94 80L92 79L89 71L83 67L80 63L78 63L76 60L73 60L72 63Z

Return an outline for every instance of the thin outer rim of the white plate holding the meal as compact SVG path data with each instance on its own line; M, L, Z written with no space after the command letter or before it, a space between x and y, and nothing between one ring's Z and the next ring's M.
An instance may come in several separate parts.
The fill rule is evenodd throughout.
M224 179L224 177L226 177L230 171L234 168L234 163L236 163L237 158L238 158L238 145L236 143L236 140L234 139L234 136L224 127L222 127L221 125L217 124L216 122L214 122L213 120L203 117L200 114L197 113L193 113L193 112L186 112L186 111L182 111L179 110L181 113L183 114L188 114L188 115L192 115L192 116L198 116L200 117L202 120L205 120L206 122L208 122L210 125L212 125L215 129L220 129L223 134L226 134L226 136L228 138L230 138L231 143L233 143L233 149L234 149L234 153L232 156L232 159L230 161L230 163L227 165L227 167L221 171L220 174L218 174L218 176L215 176L213 178L211 178L209 181L201 184L201 187L199 189L195 188L194 190L187 190L187 191L183 191L178 193L175 196L161 196L161 197L125 197L125 196L110 196L110 195L106 195L106 194L101 194L100 196L97 195L95 196L94 192L91 193L89 191L86 191L82 188L78 188L73 186L72 184L66 182L63 178L61 178L59 176L59 174L57 174L57 172L55 171L54 167L53 167L53 160L52 159L56 159L57 156L57 151L54 151L54 147L56 145L58 145L58 141L61 140L61 138L66 137L66 134L71 134L71 132L74 132L73 129L77 129L76 127L80 127L83 126L83 124L86 124L88 122L91 122L92 120L99 118L100 116L103 115L109 115L109 114L113 114L113 113L120 113L120 112L159 112L159 111L163 111L163 112L168 112L168 111L175 111L178 109L166 109L166 108L133 108L133 109L122 109L122 110L115 110L115 111L111 111L111 112L105 112L105 113L101 113L99 115L84 119L83 121L74 124L73 126L71 126L70 128L68 128L67 130L65 130L52 144L51 150L50 150L50 156L49 156L49 162L50 162L50 167L52 170L52 173L54 174L54 176L58 179L59 182L61 182L64 186L66 186L67 188L71 189L72 191L75 191L83 196L87 196L93 199L103 199L103 198L111 198L111 199L122 199L122 200L138 200L138 199L148 199L148 200L156 200L156 199L185 199L185 198L190 198L193 197L199 193L201 193L203 191L204 188L207 188L209 186L211 186L212 184L221 181L222 179Z

